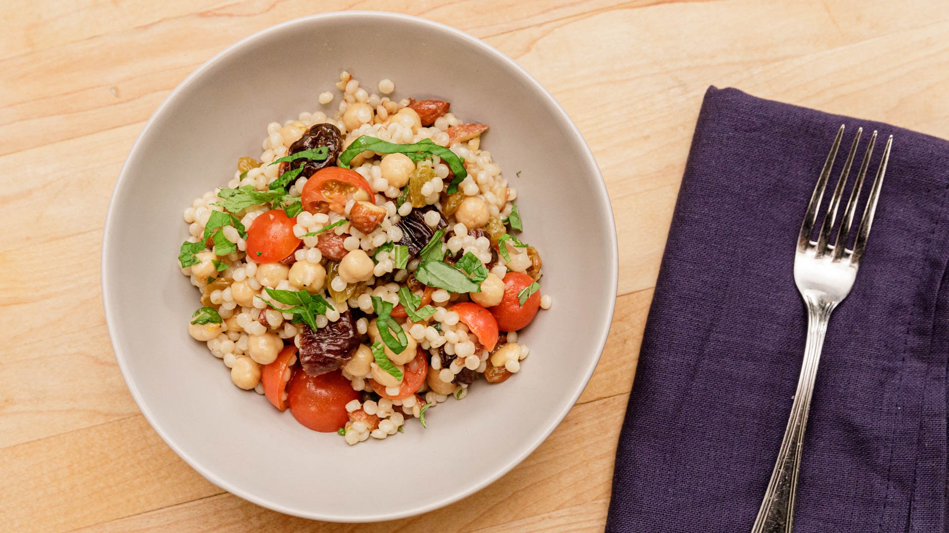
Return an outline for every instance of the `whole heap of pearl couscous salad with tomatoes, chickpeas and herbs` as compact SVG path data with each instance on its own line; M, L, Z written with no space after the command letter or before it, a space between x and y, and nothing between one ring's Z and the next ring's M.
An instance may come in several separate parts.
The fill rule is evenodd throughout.
M233 384L356 444L519 372L517 332L552 300L487 125L383 96L391 80L336 88L184 210L178 265L200 291L188 332Z

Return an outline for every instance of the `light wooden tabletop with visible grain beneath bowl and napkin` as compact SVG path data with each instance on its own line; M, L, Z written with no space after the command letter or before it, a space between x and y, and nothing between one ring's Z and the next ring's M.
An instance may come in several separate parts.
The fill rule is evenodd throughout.
M178 459L125 388L100 243L121 163L198 64L331 9L461 28L527 68L600 163L620 297L596 374L523 464L411 519L323 524L249 504ZM9 531L602 530L642 327L710 84L949 137L941 0L12 0L0 2L0 528Z

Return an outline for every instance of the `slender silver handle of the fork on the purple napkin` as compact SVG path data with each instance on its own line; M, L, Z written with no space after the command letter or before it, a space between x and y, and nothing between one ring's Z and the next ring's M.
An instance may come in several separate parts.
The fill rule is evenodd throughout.
M807 299L806 299L807 300ZM765 491L752 533L791 533L794 529L794 491L797 488L797 470L801 465L804 428L808 423L810 396L817 376L817 363L824 346L830 312L835 303L808 301L808 341L804 349L801 377L791 404L791 418L781 441L771 481Z

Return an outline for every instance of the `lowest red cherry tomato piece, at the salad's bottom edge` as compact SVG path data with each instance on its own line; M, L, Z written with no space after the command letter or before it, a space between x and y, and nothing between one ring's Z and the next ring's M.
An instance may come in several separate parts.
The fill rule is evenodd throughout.
M290 378L287 402L290 414L314 432L335 432L346 425L346 404L359 399L339 370L319 376L297 372Z

